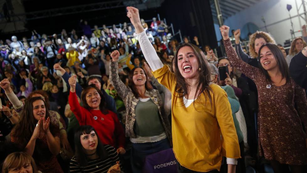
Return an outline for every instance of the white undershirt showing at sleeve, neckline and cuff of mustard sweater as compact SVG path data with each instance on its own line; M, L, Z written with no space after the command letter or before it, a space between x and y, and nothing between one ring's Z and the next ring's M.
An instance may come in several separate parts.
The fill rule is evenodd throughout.
M151 67L151 69L153 71L156 71L156 70L162 68L163 63L160 60L159 56L157 55L157 52L154 49L153 45L150 43L145 31L143 31L139 34L136 34L136 35L137 35L138 41L140 43L140 47L141 47L141 50L143 52L143 55L144 55L148 65ZM183 99L185 100L186 98L184 97ZM186 99L186 100L188 100L188 101L185 103L185 107L190 106L190 104L194 102L194 99L190 99L190 100ZM188 103L189 103L189 105L188 105ZM237 165L237 159L227 157L226 162L227 162L227 164Z

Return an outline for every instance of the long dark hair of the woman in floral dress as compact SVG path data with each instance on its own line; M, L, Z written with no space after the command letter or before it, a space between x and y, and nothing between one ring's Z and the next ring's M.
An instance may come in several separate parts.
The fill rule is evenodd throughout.
M262 71L262 73L264 74L265 78L271 82L271 84L273 83L273 81L271 80L271 77L270 75L268 74L268 71L265 70L262 65L261 65L261 62L260 62L260 52L262 50L262 48L264 46L267 46L268 49L272 52L272 54L274 55L275 57L275 60L277 62L277 66L278 66L278 69L279 71L281 72L281 76L282 78L286 78L286 82L288 83L290 81L290 72L289 72L289 67L288 67L288 64L287 64L287 61L286 59L284 58L284 55L283 53L281 52L281 50L278 48L277 45L274 45L274 44L271 44L271 43L267 43L267 44L264 44L260 47L259 51L258 51L258 64L259 64L259 68L260 70Z

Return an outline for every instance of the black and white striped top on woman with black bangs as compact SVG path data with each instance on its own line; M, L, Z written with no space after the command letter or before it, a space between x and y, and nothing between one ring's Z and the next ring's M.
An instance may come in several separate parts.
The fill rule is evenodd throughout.
M98 159L88 159L88 165L82 167L77 162L75 156L70 160L69 172L72 173L107 173L111 166L116 164L116 161L119 161L119 157L114 147L111 145L105 145L105 149L109 154L106 160ZM120 164L120 168L122 166Z

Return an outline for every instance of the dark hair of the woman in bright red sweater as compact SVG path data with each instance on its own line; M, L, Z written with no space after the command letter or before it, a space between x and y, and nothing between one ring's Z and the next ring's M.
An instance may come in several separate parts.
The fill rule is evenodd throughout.
M102 92L100 91L100 89L98 89L96 87L95 84L91 84L89 86L87 86L82 92L81 92L81 101L82 101L82 104L83 104L83 107L86 108L87 110L91 110L92 108L87 104L86 102L86 94L90 91L91 88L94 88L98 94L100 95L100 104L99 104L99 108L100 108L100 111L101 113L103 114L107 114L108 113L108 110L107 110L107 104L106 104L106 101L103 97L103 94Z

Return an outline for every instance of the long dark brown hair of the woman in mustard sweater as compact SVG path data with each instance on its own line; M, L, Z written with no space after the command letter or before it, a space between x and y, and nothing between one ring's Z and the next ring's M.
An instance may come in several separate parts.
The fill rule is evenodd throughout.
M181 45L179 45L176 55L174 57L174 63L175 63L175 69L174 69L174 73L175 73L175 78L176 78L176 86L175 86L175 91L178 93L178 97L186 97L188 96L188 87L189 84L185 81L185 78L181 75L179 68L178 68L178 52L182 47L185 46L189 46L193 49L195 56L197 58L198 61L198 67L197 67L197 71L199 73L198 76L198 85L197 85L197 89L196 91L201 91L197 94L197 92L195 93L194 99L200 99L200 95L204 94L205 96L205 104L207 102L207 97L209 98L210 104L212 103L212 99L210 96L210 92L211 92L211 88L210 88L210 68L208 66L208 61L206 59L206 55L204 54L203 51L200 50L200 48L198 48L197 46L191 44L191 43L183 43ZM201 70L198 70L198 69ZM193 102L194 105L194 102Z

